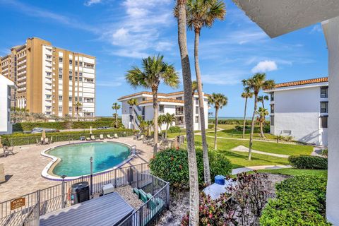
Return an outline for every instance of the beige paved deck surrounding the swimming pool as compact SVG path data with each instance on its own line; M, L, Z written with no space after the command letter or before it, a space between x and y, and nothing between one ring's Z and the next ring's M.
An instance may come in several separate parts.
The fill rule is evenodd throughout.
M153 156L153 148L142 141L133 140L132 137L118 138L104 141L118 141L136 145L136 156L124 166L137 165L148 162ZM86 142L86 141L76 141ZM6 182L0 184L0 203L11 198L17 198L38 189L44 189L60 182L44 179L42 169L52 160L40 155L42 150L69 144L69 141L56 142L50 145L23 145L14 148L15 155L0 157L0 164L4 163Z

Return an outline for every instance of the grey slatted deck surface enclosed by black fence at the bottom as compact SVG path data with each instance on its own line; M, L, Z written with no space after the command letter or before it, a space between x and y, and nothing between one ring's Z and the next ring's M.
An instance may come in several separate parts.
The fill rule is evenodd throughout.
M40 217L40 226L117 225L133 208L114 192Z

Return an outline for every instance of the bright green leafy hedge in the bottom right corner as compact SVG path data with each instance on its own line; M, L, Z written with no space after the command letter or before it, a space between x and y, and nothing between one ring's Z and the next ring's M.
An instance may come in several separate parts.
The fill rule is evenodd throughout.
M325 217L326 179L297 176L276 188L277 198L268 201L260 225L331 225Z

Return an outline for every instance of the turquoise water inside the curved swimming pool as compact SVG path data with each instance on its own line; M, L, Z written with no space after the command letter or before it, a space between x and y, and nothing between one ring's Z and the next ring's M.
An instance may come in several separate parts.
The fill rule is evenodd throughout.
M93 157L93 173L101 172L124 162L130 150L121 143L93 142L61 146L49 150L48 154L61 159L53 174L77 177L90 174L90 157Z

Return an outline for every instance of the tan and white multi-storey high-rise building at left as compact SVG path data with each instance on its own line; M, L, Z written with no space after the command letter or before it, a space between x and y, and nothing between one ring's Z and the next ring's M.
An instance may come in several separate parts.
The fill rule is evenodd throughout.
M95 116L95 57L32 37L0 57L0 73L17 85L15 107L76 117L80 102L79 117Z

